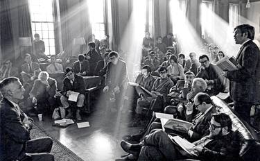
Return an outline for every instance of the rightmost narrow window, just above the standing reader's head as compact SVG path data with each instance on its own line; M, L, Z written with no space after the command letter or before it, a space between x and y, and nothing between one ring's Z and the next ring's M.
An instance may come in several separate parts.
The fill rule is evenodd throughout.
M229 3L229 26L234 28L239 24L239 5Z

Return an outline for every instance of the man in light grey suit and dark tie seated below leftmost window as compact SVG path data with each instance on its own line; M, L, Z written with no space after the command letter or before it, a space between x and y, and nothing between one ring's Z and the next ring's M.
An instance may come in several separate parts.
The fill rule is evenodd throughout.
M35 69L40 68L40 65L38 65L37 62L32 62L32 58L29 53L25 54L24 61L25 63L21 65L21 76L24 80L24 83L27 83L33 76Z

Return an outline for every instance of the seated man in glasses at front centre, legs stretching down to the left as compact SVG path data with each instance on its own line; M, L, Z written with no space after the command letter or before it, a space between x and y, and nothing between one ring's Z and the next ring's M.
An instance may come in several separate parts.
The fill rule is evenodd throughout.
M135 112L137 113L137 115L139 115L138 117L141 117L142 110L146 106L150 106L150 103L151 101L153 101L153 99L156 99L157 96L168 94L170 88L173 87L173 81L167 76L168 71L166 67L159 67L158 72L160 78L155 80L155 82L153 83L150 95L141 95L141 98L137 100L137 108Z

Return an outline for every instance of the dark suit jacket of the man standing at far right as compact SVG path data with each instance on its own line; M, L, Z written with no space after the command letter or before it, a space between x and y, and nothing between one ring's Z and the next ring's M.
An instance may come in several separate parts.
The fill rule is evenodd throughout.
M241 65L241 69L227 71L227 78L230 80L229 91L234 101L252 103L257 99L256 72L259 72L259 56L259 48L250 40L241 46L236 56L236 62Z

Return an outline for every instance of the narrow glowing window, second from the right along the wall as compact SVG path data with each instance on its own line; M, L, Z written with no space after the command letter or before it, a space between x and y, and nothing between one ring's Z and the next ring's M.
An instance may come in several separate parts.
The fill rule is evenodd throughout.
M209 37L209 34L213 31L214 3L212 1L202 1L200 10L201 33L204 37Z

